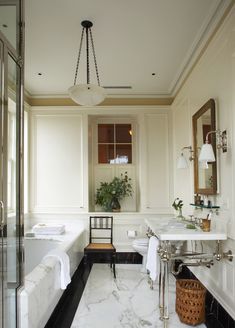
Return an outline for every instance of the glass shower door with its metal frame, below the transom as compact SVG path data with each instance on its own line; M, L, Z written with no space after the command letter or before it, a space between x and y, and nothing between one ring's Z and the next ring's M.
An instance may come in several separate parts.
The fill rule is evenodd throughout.
M0 327L17 327L17 292L22 281L22 106L21 67L0 41L0 62L4 59L1 83L0 160ZM0 70L2 70L1 65Z

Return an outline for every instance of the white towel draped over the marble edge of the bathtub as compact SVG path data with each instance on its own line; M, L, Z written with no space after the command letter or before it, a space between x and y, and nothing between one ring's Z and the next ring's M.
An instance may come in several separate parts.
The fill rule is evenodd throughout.
M46 257L55 257L60 262L60 286L61 289L66 289L67 285L71 282L68 255L61 249L54 248L44 256L44 258Z

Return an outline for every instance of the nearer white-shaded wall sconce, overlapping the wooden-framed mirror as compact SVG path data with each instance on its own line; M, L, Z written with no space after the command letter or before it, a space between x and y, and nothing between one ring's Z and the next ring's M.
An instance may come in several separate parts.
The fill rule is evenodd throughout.
M202 145L198 158L199 162L215 162L215 154L208 140L209 135L212 133L215 133L217 137L217 149L222 149L223 153L227 152L227 132L221 132L220 130L210 131L206 135L206 143Z

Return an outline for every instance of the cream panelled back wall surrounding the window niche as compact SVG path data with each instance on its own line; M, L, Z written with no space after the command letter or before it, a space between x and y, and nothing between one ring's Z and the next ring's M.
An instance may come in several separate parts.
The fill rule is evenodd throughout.
M144 219L172 213L172 127L169 106L148 107L32 107L30 110L30 188L31 223L49 220L85 220L92 198L89 174L92 158L88 122L98 117L129 117L136 125L136 162L129 168L137 207L123 204L115 213L114 244L118 251L131 251L128 230L144 236ZM92 117L94 116L94 117ZM93 120L92 120L93 119ZM113 168L113 167L112 167ZM111 169L112 169L111 168ZM124 166L120 168L124 170ZM119 168L117 169L119 172ZM108 181L109 170L103 172ZM94 208L94 207L93 207ZM137 208L137 211L135 211ZM101 212L99 212L100 214ZM107 213L105 213L107 214ZM36 220L36 221L35 221ZM27 225L30 227L30 222Z

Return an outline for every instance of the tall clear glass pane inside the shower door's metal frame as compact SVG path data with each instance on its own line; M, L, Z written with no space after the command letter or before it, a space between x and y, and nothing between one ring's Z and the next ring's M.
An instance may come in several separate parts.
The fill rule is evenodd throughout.
M4 236L6 247L6 286L4 327L16 327L17 289L21 285L21 110L20 110L20 67L14 58L7 56L7 153L3 182L7 190L5 216L7 230ZM5 139L6 140L6 139Z

